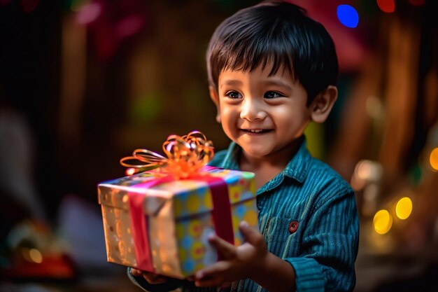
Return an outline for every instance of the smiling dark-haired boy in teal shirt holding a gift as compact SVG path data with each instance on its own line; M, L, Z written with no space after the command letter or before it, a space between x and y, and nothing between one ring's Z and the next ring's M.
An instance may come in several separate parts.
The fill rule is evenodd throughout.
M207 50L216 119L232 139L210 165L255 172L260 232L246 242L213 235L225 257L178 281L132 269L147 291L353 291L358 212L348 183L311 158L304 129L337 99L329 34L301 8L263 3L222 22ZM143 276L143 277L142 277ZM199 288L202 287L202 288Z

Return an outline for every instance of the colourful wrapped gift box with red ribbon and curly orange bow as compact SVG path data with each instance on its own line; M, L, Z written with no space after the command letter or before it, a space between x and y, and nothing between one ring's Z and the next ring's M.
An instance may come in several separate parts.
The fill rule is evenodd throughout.
M239 223L257 228L254 174L205 166L213 147L200 132L163 148L168 158L137 149L121 161L159 168L99 183L106 252L111 263L183 279L220 258L212 232L239 246Z

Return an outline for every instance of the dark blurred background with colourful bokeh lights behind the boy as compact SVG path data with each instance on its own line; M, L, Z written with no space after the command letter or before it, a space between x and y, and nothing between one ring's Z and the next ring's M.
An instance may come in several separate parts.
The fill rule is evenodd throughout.
M134 148L200 130L204 53L255 0L0 0L0 291L139 291L106 263L97 183ZM339 56L339 99L306 130L356 190L355 291L438 291L438 30L432 0L295 0Z

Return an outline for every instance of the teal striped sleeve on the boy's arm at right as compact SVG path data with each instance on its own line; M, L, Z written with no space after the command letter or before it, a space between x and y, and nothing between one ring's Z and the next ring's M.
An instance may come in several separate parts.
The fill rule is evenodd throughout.
M295 270L297 292L353 291L358 210L351 188L339 193L314 204L302 237L300 256L285 258Z

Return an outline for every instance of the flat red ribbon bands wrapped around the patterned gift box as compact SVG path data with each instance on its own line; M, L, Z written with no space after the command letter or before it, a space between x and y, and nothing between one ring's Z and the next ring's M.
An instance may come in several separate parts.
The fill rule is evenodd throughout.
M206 167L211 170L215 167ZM229 203L229 193L227 183L216 176L197 176L190 179L206 181L211 190L213 202L213 224L216 229L216 235L230 244L234 244L234 232L232 228L231 205ZM154 179L146 183L135 185L135 188L151 188L161 183L173 181L173 176L164 176L160 179ZM148 216L143 211L144 194L129 193L129 216L131 218L132 237L134 238L134 248L137 260L137 267L140 270L155 272L153 267L153 258L150 250ZM218 259L223 256L218 253Z

